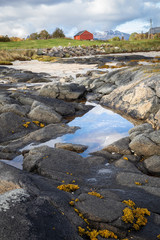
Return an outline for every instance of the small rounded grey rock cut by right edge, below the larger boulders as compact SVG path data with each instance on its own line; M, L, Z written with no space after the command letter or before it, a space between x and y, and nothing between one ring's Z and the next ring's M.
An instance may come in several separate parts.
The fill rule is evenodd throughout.
M144 166L149 173L160 175L160 155L154 155L145 159Z

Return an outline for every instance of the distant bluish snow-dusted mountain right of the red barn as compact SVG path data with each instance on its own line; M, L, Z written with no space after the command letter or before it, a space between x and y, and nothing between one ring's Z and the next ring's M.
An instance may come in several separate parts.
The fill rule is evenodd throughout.
M93 36L94 36L94 39L97 39L97 40L107 40L107 39L111 39L113 37L119 37L120 39L122 37L124 37L125 40L128 40L130 34L123 33L123 32L117 31L117 30L116 31L110 30L110 31L104 31L104 32L97 31L97 32L93 33Z

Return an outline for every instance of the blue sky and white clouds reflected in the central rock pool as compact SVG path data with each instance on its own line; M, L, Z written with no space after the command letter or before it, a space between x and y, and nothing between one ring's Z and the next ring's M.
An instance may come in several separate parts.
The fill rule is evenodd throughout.
M74 134L66 134L38 146L54 147L54 144L58 142L83 144L88 146L88 149L81 154L86 157L90 152L101 150L118 139L128 136L128 130L133 127L132 123L98 104L89 102L86 104L95 107L84 116L77 117L68 123L69 126L80 127L79 130ZM35 147L35 145L29 146L29 148L32 147Z

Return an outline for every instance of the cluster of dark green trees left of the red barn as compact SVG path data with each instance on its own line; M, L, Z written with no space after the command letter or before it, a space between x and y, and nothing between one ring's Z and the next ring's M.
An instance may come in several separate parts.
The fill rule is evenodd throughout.
M28 40L38 39L51 39L51 38L64 38L65 34L62 29L56 28L52 34L49 34L46 30L42 30L40 33L31 33L27 38Z

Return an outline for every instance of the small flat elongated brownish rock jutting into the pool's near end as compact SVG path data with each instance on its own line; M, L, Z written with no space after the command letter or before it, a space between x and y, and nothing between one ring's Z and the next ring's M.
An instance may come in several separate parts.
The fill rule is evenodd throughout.
M66 149L72 152L82 153L84 152L88 147L81 144L72 144L72 143L56 143L55 148L61 148Z

